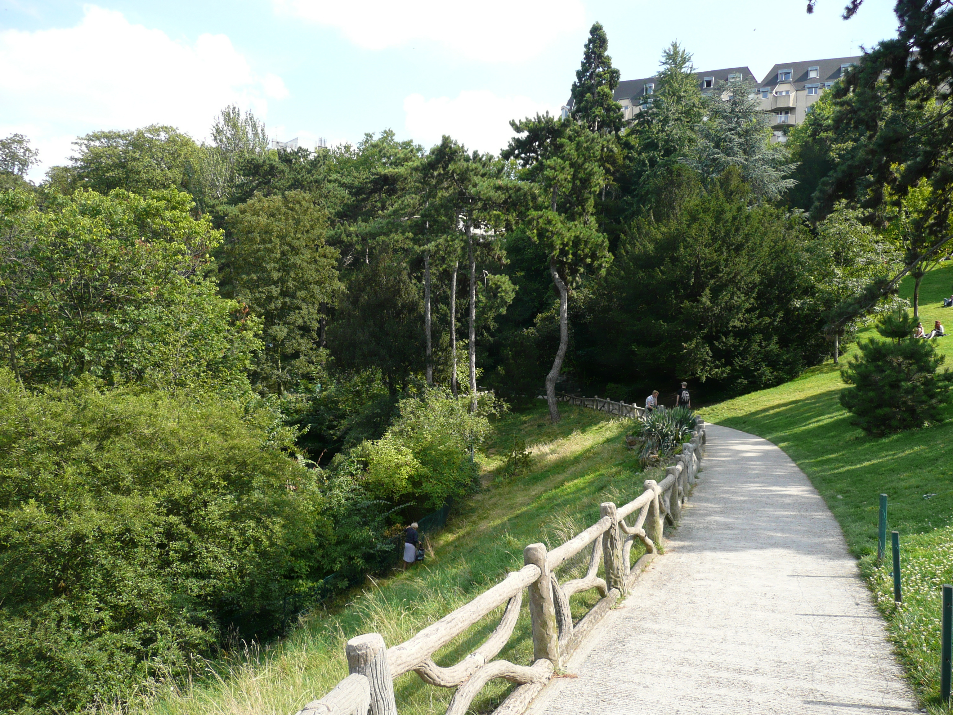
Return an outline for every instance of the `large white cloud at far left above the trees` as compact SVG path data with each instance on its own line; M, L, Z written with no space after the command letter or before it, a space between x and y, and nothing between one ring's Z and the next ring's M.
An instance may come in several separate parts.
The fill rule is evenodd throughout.
M45 166L69 155L66 136L171 124L201 138L225 105L264 115L266 97L288 93L281 77L253 72L226 35L177 42L91 5L72 28L0 32L0 131L30 136Z

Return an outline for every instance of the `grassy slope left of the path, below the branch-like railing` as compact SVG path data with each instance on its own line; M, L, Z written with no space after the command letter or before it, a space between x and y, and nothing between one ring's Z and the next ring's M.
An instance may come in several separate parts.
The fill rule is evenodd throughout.
M401 643L420 628L521 568L523 547L543 541L552 547L598 521L602 501L625 503L642 492L646 475L624 448L628 420L608 419L593 410L560 407L563 419L550 424L545 405L505 416L481 457L483 488L452 516L433 540L435 554L407 573L395 572L355 590L350 603L332 612L303 618L283 642L266 649L236 648L204 667L206 674L191 684L156 685L133 702L132 711L168 715L287 715L323 696L344 676L344 644L355 635L379 632L388 645ZM526 440L533 453L527 473L497 477L514 436ZM632 561L641 555L633 548ZM584 571L586 554L569 568ZM566 574L565 568L560 575ZM572 577L570 577L572 578ZM574 596L574 615L595 603L590 591ZM528 605L501 658L530 664ZM496 627L502 608L437 654L436 662L455 664ZM472 705L490 712L511 685L494 681ZM414 673L395 682L402 712L442 713L454 690L424 684Z

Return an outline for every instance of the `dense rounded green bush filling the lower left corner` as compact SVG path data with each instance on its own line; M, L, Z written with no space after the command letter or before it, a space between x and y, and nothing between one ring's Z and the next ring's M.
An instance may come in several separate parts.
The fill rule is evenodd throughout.
M333 565L314 543L345 541L293 439L260 407L0 371L0 711L122 698L280 626Z

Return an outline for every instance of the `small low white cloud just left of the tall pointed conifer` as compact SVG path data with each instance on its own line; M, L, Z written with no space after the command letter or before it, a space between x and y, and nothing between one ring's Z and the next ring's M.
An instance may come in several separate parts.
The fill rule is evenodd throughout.
M460 92L453 99L424 99L420 94L404 99L407 131L415 141L430 147L449 134L467 149L480 152L499 153L506 146L515 136L511 119L558 111L526 96L499 97L488 90Z

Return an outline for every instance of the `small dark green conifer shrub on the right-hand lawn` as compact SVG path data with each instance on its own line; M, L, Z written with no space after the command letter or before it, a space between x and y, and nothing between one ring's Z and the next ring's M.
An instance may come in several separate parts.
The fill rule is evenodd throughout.
M910 337L916 320L898 310L882 317L882 337L862 340L861 356L841 368L852 387L841 390L841 405L854 414L852 424L870 435L886 435L943 421L953 374L944 370L932 340Z

